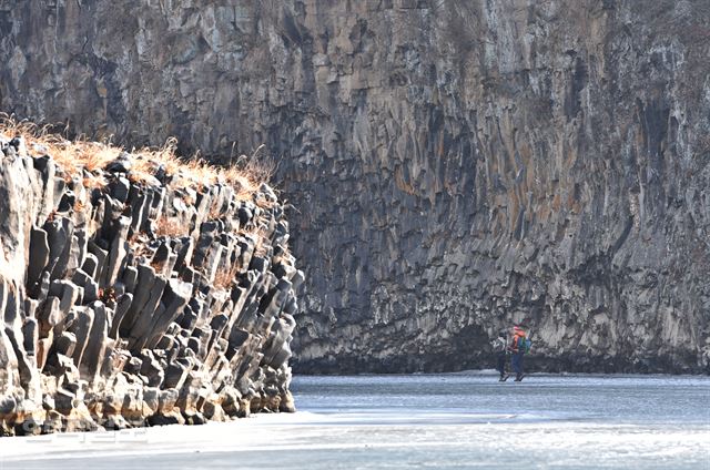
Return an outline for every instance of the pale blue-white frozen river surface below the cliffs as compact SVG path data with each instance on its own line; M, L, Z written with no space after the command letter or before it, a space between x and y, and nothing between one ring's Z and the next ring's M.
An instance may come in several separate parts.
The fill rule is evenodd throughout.
M710 378L297 377L298 412L0 439L0 469L710 469Z

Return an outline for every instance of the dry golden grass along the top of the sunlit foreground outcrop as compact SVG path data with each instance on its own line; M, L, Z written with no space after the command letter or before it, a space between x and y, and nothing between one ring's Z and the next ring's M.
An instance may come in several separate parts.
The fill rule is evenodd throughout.
M159 174L168 176L169 186L199 188L205 185L229 184L241 200L247 200L262 183L268 182L275 165L267 157L242 155L235 165L210 164L199 154L183 157L178 154L178 140L169 139L160 147L126 150L110 142L90 142L85 139L69 141L50 132L50 126L39 126L29 121L18 121L0 113L0 135L6 139L22 137L32 154L50 155L65 172L67 178L81 177L88 187L103 187L106 181L101 173L108 165L130 156L129 178L132 182L150 182ZM260 147L261 150L261 147Z

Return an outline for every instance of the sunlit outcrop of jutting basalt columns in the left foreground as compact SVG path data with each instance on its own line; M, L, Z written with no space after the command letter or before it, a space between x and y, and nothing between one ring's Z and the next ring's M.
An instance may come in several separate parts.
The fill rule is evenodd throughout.
M294 410L303 274L270 186L52 149L0 134L0 433Z

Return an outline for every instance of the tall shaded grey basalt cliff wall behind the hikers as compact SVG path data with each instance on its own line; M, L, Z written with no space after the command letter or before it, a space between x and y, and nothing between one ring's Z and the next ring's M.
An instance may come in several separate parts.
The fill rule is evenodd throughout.
M205 4L207 3L207 4ZM306 270L304 371L708 370L704 1L0 1L0 105L260 144Z

